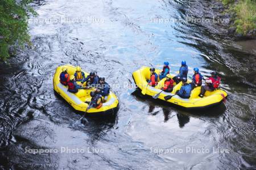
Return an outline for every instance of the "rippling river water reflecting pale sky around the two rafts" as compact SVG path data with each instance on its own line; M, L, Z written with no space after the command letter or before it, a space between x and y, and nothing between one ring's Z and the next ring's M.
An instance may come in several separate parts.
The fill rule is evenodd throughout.
M34 45L0 67L1 169L255 169L255 41L234 42L209 23L186 20L210 14L210 2L33 4ZM190 76L193 67L220 73L225 104L189 112L130 88L139 67L169 61L175 73L183 59ZM117 85L114 119L81 124L53 94L55 69L67 63Z

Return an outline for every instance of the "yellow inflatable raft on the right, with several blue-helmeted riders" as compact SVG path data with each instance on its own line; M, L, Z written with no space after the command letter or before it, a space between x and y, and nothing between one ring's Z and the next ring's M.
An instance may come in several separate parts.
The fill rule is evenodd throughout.
M155 73L159 74L160 70L155 70ZM172 77L175 75L171 75ZM146 92L146 95L148 96L154 96L158 94L161 90L160 88L163 87L164 81L166 78L160 80L158 83L158 86L156 87L151 87L147 86L147 79L150 79L150 67L141 67L141 69L134 71L133 73L133 79L135 84L137 85L138 88L140 88L142 91ZM188 82L191 82L191 80L188 80ZM200 87L196 87L192 90L191 96L189 99L182 99L178 95L175 95L175 92L177 90L180 90L182 83L178 83L174 86L174 90L172 92L162 92L158 99L164 100L165 96L172 96L170 100L164 100L167 101L168 103L172 103L175 105L179 105L180 107L184 108L205 108L209 107L211 105L219 104L221 103L228 94L226 94L225 91L216 89L212 92L207 91L205 92L205 95L203 98L199 97L198 95L200 94ZM146 89L145 89L146 88Z

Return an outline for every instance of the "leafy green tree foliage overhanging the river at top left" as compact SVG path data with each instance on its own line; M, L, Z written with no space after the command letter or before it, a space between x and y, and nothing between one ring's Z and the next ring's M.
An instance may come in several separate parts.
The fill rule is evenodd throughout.
M1 0L0 1L0 59L6 60L9 47L24 47L30 44L28 35L28 16L36 15L28 6L32 0Z

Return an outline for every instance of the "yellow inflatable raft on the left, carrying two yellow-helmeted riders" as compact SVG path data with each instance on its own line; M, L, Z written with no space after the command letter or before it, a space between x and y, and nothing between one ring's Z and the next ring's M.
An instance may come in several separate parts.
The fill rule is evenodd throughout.
M68 87L60 83L59 77L60 77L62 67L67 67L69 75L75 74L75 71L76 71L75 66L64 65L64 66L57 67L55 71L55 75L53 77L53 88L55 92L59 94L61 97L63 97L63 99L66 100L76 111L86 112L85 113L86 116L96 116L96 115L102 115L102 114L113 115L117 111L118 99L117 99L117 96L113 94L113 92L110 92L110 94L108 95L108 99L104 101L100 109L96 109L96 108L87 109L91 99L90 92L92 90L80 89L76 94L68 92ZM86 73L85 71L84 73L85 73L85 76L88 75L88 73ZM77 84L79 83L80 82L77 82Z

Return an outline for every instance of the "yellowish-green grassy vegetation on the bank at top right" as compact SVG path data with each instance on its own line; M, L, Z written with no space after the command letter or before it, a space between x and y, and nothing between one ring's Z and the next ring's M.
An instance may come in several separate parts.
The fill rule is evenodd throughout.
M236 32L246 35L249 31L256 29L256 1L255 0L222 0L222 3L234 11L234 25Z

